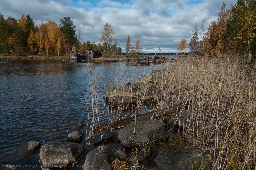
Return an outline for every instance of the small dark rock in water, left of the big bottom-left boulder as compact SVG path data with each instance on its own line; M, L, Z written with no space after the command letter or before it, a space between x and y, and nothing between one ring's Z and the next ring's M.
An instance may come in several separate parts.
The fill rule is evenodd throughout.
M35 154L36 150L40 148L40 143L35 141L24 142L19 148L19 157L25 158L28 155Z

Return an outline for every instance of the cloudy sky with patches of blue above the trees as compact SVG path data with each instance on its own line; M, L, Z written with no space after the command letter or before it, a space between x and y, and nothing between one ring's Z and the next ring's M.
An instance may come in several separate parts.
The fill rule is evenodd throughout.
M81 30L84 41L99 43L105 22L114 27L118 46L124 50L127 35L142 52L177 52L181 38L189 42L195 22L217 20L223 0L0 0L0 13L20 18L29 14L35 24L49 19L60 24L67 16ZM227 7L234 0L225 1ZM199 36L201 38L201 36Z

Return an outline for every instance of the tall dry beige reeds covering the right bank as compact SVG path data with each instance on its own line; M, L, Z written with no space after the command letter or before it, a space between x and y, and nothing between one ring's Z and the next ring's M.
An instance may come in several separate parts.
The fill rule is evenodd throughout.
M153 88L155 109L192 101L188 126L179 133L193 139L187 147L200 148L214 157L216 169L255 169L255 83L255 68L249 57L218 55L205 60L178 59L142 86ZM140 95L136 105L145 105L143 96L147 93L144 90L137 94L135 88L130 93ZM94 101L95 93L97 89L92 88ZM164 117L166 113L161 114ZM98 115L95 112L91 117ZM99 124L99 119L94 123Z

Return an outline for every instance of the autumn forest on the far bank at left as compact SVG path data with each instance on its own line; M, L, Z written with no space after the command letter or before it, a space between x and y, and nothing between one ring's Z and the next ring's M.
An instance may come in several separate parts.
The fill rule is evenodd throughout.
M69 17L61 19L59 25L51 19L35 25L30 15L22 14L17 20L13 17L5 19L0 13L0 54L67 55L75 46L80 53L89 48L121 54L121 48L116 44L107 47L106 42L97 45L89 40L83 41L81 31L76 35L75 28Z

